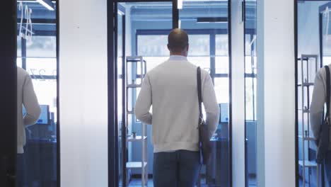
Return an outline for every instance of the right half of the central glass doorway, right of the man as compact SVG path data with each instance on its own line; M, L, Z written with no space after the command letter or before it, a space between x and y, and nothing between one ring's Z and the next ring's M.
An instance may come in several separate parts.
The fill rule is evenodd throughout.
M209 72L221 108L219 125L211 138L213 142L211 163L202 168L200 186L231 186L229 3L229 1L178 3L178 25L187 30L190 36L190 51L187 59Z

